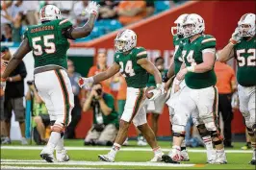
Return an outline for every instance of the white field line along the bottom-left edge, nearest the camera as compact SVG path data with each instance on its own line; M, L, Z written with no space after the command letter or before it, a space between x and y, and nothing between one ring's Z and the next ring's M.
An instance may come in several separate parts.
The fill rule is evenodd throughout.
M47 167L38 167L38 166L1 166L1 169L95 169L90 167L54 167L54 166L47 166ZM104 169L104 168L97 168L97 169Z

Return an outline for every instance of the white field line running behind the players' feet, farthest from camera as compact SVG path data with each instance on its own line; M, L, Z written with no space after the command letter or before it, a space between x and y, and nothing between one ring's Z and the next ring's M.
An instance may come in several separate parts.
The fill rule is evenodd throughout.
M42 150L43 146L1 146L1 149L9 149L9 150ZM84 151L109 151L111 147L75 147L75 146L67 146L66 150L84 150ZM168 152L170 149L162 149L164 152ZM121 148L121 151L152 151L150 148ZM196 150L196 149L188 149L190 153L206 153L206 150ZM251 150L226 150L226 153L243 153L250 154Z

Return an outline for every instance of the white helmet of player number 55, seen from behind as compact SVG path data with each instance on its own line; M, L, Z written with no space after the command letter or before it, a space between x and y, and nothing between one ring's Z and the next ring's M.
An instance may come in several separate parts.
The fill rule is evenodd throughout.
M62 19L61 11L54 5L46 5L41 8L39 12L40 21L51 21L55 19Z

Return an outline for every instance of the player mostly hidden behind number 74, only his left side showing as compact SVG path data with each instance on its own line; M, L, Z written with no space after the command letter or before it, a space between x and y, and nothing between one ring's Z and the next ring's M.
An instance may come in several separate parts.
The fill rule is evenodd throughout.
M175 21L174 23L176 24L176 27L172 27L171 28L171 34L173 35L173 44L175 46L175 51L174 51L174 55L173 55L173 61L170 64L170 67L168 69L168 72L166 73L166 75L163 77L163 82L166 83L166 85L168 85L167 82L169 82L169 78L171 78L172 76L176 76L177 73L180 70L180 67L183 63L183 59L182 59L182 49L183 49L183 41L184 41L184 32L183 32L183 28L182 28L182 24L185 20L185 17L187 17L189 14L185 13L180 15ZM176 34L174 33L174 30L176 30ZM177 83L177 79L174 79L174 84ZM173 120L178 120L177 122L171 122L172 123L172 131L173 131L173 140L182 142L181 143L181 155L180 155L180 160L182 161L188 161L190 160L189 155L188 155L188 151L186 149L186 141L184 139L185 137L185 127L187 125L186 120L187 119L180 119L180 118L176 118L176 116L181 117L181 113L178 112L175 117L174 117L174 107L175 107L175 103L178 101L177 98L180 94L180 89L182 89L184 86L186 86L185 81L183 80L178 86L177 89L174 89L175 85L173 85L173 87L171 88L171 95L170 98L166 101L166 104L168 106L169 109L169 114L170 114L170 121ZM168 86L166 87L168 88ZM177 92L178 91L178 92ZM197 109L195 109L193 111L192 114L196 114L196 111L198 112ZM206 130L205 126L201 125L198 121L196 121L196 119L193 119L193 123L194 126L197 127L199 134L201 135L204 144L206 146L206 150L207 150L207 161L211 162L213 160L213 143L212 143L212 139L211 139L211 135L210 133ZM176 126L181 126L183 125L184 127L184 132L179 134L176 133ZM171 155L171 152L168 154L169 156ZM169 157L164 156L164 160L166 162L170 161L172 159L169 159Z

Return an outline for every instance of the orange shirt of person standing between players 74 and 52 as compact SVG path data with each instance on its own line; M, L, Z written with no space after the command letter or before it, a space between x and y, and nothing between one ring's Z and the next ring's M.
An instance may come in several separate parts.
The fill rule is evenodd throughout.
M216 61L215 72L217 76L218 93L228 94L232 92L231 82L236 81L235 71L225 63Z

